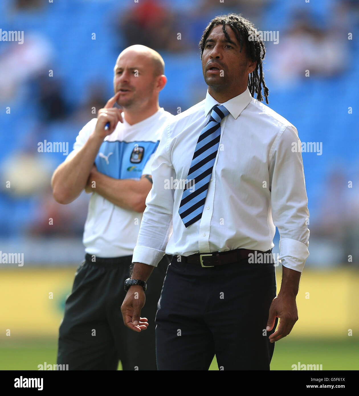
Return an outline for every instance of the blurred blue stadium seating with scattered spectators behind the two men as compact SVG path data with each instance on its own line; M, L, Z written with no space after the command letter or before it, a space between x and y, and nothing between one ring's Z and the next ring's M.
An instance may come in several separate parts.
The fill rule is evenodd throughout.
M296 95L306 98L313 93L313 80L307 78L305 70L320 82L318 89L327 89L323 96L325 92L332 95L334 87L342 89L343 100L355 91L346 79L350 74L358 75L353 61L358 45L348 39L349 32L353 36L359 32L359 6L354 0L332 0L317 6L312 2L299 6L276 0L61 3L5 0L0 6L3 30L25 31L23 44L0 43L0 102L3 109L10 108L0 116L1 144L5 148L0 156L2 238L82 234L88 194L81 194L67 206L57 204L52 198L50 178L65 156L38 152L37 145L45 139L69 142L71 151L78 131L96 116L92 109L103 107L112 94L111 65L127 46L143 44L164 57L168 86L160 105L174 114L178 107L187 109L204 97L198 43L210 19L228 12L242 13L258 30L279 31L277 45L266 43L265 75L271 83L269 106L280 114L285 115L288 103L293 107L299 102L298 109L302 109ZM96 42L90 37L93 31ZM81 34L87 34L87 41ZM192 70L191 65L197 65L197 69ZM344 89L343 84L348 88ZM289 97L294 98L292 102L288 102ZM350 135L343 137L347 140L342 149L335 144L335 134L340 131L334 126L330 129L330 124L335 123L325 123L327 99L318 101L317 110L305 116L298 114L298 109L288 113L296 126L306 118L302 129L297 127L302 140L323 137L326 150L321 158L313 153L311 157L309 153L303 155L309 212L313 215L309 229L314 240L332 240L342 246L342 262L347 261L348 251L353 251L353 261L359 261L359 154L348 148ZM335 117L348 118L346 110L353 105L345 101L342 115ZM312 129L307 131L306 127ZM331 152L342 165L340 169L331 168ZM317 167L319 161L321 166ZM348 172L350 168L354 171ZM351 179L352 187L348 187ZM7 181L11 182L10 188Z

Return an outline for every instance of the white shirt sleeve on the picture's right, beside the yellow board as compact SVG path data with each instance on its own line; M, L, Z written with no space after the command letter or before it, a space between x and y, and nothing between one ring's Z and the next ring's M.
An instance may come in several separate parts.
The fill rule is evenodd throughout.
M298 272L309 256L309 211L300 147L296 128L288 126L273 143L269 168L272 218L280 235L278 259Z

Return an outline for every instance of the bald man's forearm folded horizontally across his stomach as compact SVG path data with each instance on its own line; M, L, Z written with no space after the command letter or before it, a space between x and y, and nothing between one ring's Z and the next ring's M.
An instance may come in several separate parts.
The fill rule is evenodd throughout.
M137 212L145 210L145 200L151 189L147 179L114 179L98 171L90 174L88 184L92 187L92 192L121 208Z

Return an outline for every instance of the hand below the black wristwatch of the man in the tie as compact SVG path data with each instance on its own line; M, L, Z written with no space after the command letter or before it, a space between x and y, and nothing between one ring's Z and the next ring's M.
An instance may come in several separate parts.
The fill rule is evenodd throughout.
M141 309L145 305L146 297L142 286L130 286L121 306L123 322L130 329L140 332L147 329L147 318L141 318Z

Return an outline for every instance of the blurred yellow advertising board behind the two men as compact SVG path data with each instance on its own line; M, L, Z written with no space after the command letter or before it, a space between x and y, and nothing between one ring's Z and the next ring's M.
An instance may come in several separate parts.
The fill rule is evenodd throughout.
M76 267L1 270L0 341L56 337L75 271ZM278 291L280 283L277 270ZM359 271L305 268L296 301L299 320L290 337L348 337L350 330L357 334Z

